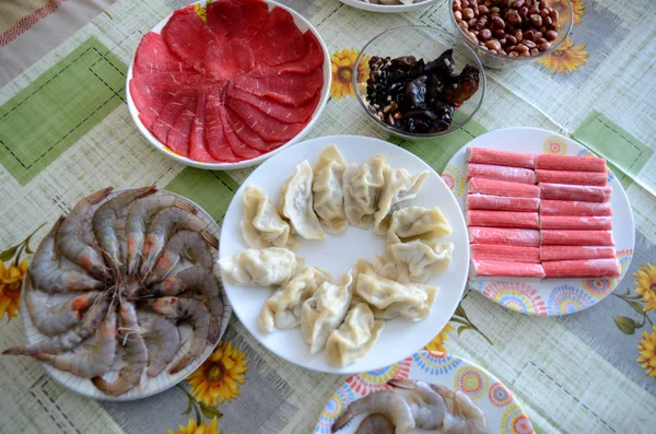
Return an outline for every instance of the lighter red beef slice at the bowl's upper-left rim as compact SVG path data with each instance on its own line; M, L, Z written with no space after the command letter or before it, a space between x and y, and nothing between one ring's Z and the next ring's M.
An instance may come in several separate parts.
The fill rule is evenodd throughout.
M168 49L162 35L149 32L143 36L134 55L134 68L132 68L134 75L185 71L194 71L194 69Z

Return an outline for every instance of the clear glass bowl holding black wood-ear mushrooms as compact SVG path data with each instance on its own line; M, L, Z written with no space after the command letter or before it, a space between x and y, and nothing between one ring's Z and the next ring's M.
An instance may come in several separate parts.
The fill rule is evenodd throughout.
M353 86L382 129L422 139L457 130L476 115L485 72L461 40L411 25L383 32L364 46L353 68Z

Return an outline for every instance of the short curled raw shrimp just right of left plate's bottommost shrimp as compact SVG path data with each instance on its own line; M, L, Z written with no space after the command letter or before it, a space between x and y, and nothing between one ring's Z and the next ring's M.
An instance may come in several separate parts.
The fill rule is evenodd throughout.
M156 377L175 357L183 342L180 332L173 321L152 312L140 312L139 324L144 330L143 339L150 349L148 353L149 377Z

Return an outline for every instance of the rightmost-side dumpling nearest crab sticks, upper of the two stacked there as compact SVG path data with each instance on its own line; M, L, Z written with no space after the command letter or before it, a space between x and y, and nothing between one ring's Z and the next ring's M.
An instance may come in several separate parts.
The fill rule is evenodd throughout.
M433 241L453 232L440 208L408 207L391 213L387 244Z

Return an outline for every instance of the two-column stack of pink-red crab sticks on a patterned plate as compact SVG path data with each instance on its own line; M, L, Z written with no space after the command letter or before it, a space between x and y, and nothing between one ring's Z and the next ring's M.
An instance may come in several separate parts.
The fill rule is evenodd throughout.
M467 161L472 275L620 275L604 159L469 148Z

